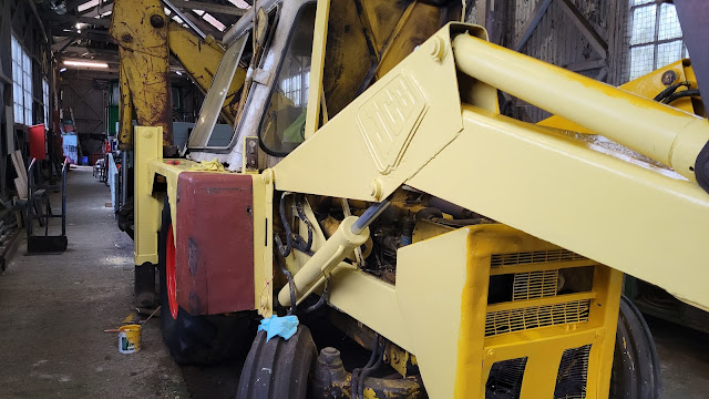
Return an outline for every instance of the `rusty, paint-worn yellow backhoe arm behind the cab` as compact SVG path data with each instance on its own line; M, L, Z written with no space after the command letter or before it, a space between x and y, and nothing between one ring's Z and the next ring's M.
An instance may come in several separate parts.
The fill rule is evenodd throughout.
M131 115L135 110L138 125L163 127L163 146L169 147L171 53L206 92L225 50L210 35L202 40L178 23L168 22L158 0L116 0L110 33L119 43L121 59L121 145L124 149L133 145ZM234 123L245 79L246 69L238 68L222 109L228 123Z

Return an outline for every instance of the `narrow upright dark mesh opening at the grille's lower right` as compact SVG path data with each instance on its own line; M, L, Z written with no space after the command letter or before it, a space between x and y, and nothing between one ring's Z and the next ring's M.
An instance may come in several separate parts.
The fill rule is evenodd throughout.
M556 375L554 399L586 398L589 354L590 344L564 350Z

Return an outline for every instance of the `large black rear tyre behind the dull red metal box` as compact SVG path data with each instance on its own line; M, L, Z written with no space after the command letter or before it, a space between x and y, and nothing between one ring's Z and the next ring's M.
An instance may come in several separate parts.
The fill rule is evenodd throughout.
M248 348L255 325L250 315L192 316L182 307L173 318L166 283L167 231L172 225L165 198L158 239L161 329L169 355L179 365L213 365L242 355Z

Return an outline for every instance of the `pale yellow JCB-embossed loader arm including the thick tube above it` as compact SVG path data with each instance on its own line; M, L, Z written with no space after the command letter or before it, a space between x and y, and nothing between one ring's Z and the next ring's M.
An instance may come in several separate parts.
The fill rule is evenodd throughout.
M409 185L709 309L709 194L693 172L707 120L484 39L439 31L276 165L276 190L379 202ZM493 88L685 178L502 116Z

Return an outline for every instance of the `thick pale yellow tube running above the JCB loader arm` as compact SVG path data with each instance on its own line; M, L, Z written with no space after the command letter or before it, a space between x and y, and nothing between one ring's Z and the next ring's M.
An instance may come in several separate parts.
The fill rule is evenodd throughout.
M453 39L453 53L463 73L671 166L697 182L698 155L709 142L707 120L469 34Z

